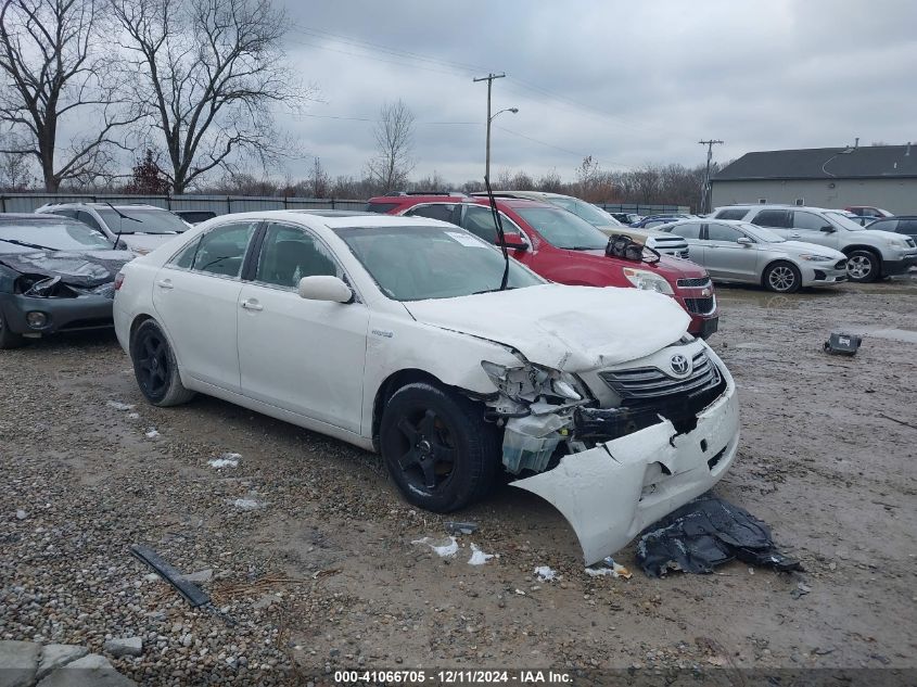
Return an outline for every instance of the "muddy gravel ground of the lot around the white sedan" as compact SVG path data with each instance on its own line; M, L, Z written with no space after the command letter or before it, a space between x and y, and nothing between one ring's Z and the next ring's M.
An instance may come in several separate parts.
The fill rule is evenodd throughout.
M716 492L805 573L651 580L631 547L631 580L589 577L559 513L511 487L458 513L480 529L440 558L411 542L447 519L407 506L378 457L212 398L150 407L114 336L84 334L0 352L0 639L139 635L143 656L114 662L152 684L279 683L291 662L318 683L342 666L915 667L917 278L719 298L711 343L743 433ZM832 329L865 334L856 357L822 352ZM207 463L227 451L238 467ZM133 543L211 569L225 618L149 580ZM469 565L471 543L499 558Z

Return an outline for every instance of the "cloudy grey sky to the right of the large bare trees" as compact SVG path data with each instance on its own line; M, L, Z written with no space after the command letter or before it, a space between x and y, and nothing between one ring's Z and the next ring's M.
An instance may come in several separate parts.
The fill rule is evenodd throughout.
M914 0L276 0L291 63L319 88L279 115L332 174L359 175L380 106L417 118L417 178L481 178L486 85L492 175L572 178L752 150L917 140ZM305 174L307 163L288 170Z

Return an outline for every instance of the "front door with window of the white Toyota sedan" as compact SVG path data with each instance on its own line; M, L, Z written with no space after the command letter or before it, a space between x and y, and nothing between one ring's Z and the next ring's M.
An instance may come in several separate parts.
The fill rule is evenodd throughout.
M235 304L242 393L359 432L369 309L300 297L300 279L315 275L345 278L310 231L268 224L254 280Z

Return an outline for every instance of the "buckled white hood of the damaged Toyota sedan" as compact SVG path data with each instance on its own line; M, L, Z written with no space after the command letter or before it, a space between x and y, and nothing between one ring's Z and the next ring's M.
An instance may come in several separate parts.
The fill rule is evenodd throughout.
M639 289L544 284L404 303L425 325L518 349L531 362L584 371L634 360L680 339L690 317Z

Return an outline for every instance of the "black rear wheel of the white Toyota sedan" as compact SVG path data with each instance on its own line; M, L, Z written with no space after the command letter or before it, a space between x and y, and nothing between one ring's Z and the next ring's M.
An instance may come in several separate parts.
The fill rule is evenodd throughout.
M153 320L144 321L133 332L130 358L137 385L154 406L177 406L194 397L194 392L181 383L168 340Z

